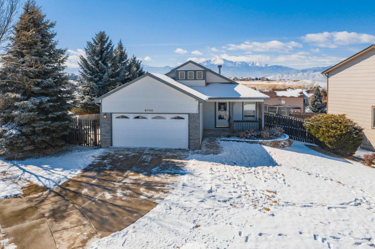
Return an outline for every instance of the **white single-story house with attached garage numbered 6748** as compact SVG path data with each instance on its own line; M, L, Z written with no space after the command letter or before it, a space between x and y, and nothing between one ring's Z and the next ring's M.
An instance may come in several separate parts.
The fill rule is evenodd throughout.
M102 147L199 149L204 130L264 128L267 95L196 62L146 73L95 99Z

